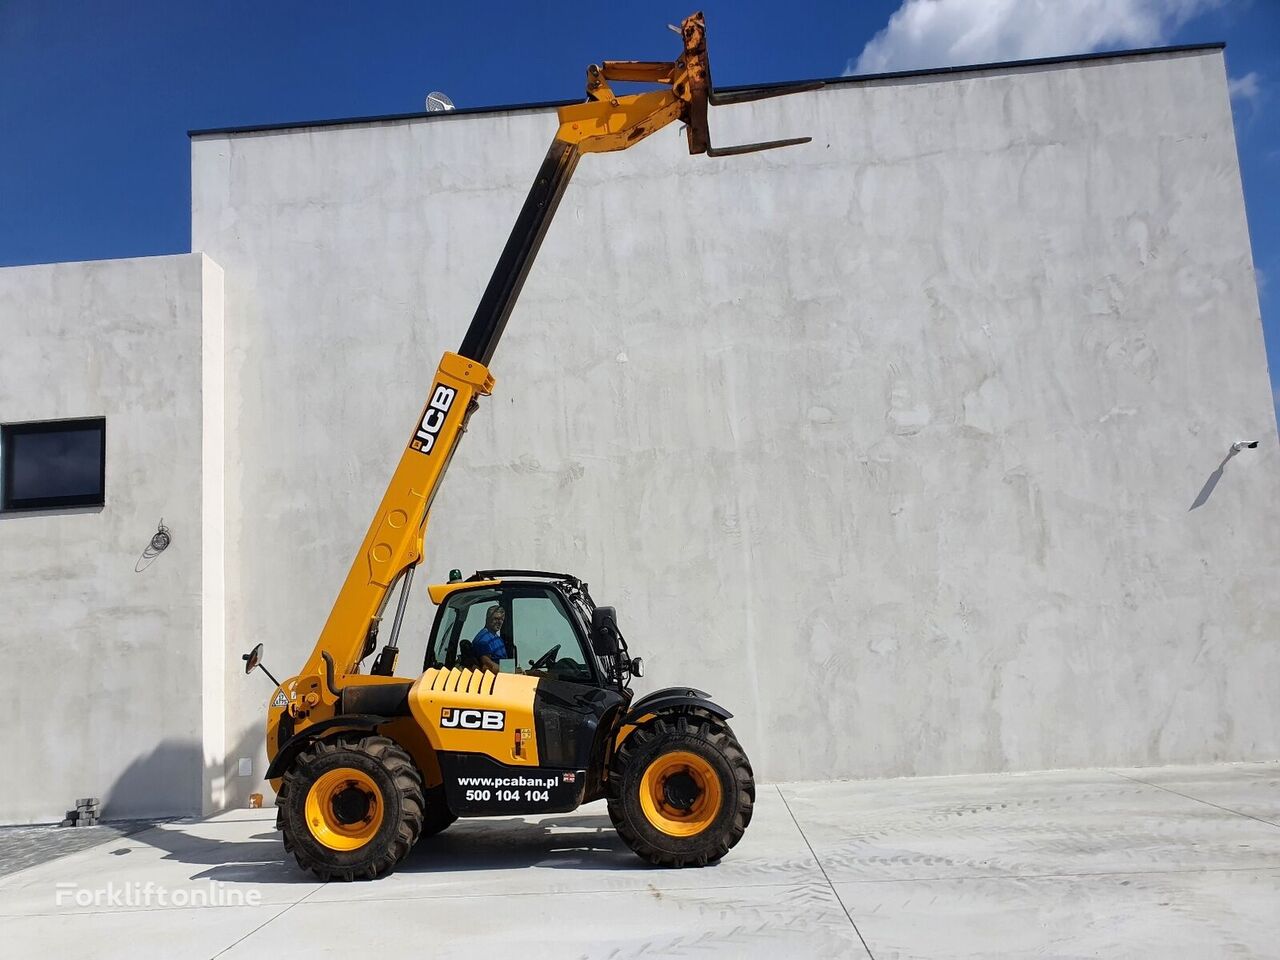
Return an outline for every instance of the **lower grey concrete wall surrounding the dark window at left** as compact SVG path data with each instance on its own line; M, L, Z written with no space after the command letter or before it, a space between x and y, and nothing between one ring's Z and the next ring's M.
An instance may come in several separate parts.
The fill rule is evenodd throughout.
M105 506L0 513L0 823L223 803L220 296L201 255L0 270L0 422L106 417Z

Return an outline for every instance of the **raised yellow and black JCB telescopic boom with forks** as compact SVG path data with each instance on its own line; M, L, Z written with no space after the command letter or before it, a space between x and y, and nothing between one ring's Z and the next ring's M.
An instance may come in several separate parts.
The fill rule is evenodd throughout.
M626 150L672 120L685 123L690 154L736 156L809 141L809 137L801 137L719 150L713 147L707 127L708 104L718 106L763 100L814 90L820 83L716 93L707 61L707 27L701 13L686 18L678 33L684 41L678 59L669 63L607 60L600 65L593 64L586 70L586 102L559 109L559 129L516 218L462 346L457 353L445 353L440 360L426 407L392 475L333 612L300 675L303 681L308 677L320 681L302 686L316 690L328 707L337 700L335 684L356 672L360 662L376 646L383 611L392 586L401 580L403 586L392 635L372 672L389 675L394 669L404 599L413 568L422 559L422 536L431 500L466 429L467 417L479 406L477 398L493 392L489 361L579 157L582 154ZM664 88L617 96L609 86L611 81L655 83Z

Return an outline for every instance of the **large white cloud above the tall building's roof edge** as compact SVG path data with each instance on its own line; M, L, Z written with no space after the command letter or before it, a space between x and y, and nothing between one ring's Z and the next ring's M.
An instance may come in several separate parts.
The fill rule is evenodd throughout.
M1226 0L902 0L845 73L1028 60L1165 44Z

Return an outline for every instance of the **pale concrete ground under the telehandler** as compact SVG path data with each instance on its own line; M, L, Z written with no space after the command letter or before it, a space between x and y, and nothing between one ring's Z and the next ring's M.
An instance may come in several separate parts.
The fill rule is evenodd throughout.
M767 786L701 870L646 868L594 804L463 820L393 877L323 884L273 817L0 878L5 955L1280 957L1274 763Z

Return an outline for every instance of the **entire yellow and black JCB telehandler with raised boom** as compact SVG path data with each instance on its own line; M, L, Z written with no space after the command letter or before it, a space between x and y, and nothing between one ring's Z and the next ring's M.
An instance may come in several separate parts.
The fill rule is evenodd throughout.
M276 827L285 850L323 879L389 873L421 837L458 817L562 813L607 797L627 845L671 867L718 860L751 820L755 783L728 726L732 714L691 687L632 701L640 659L631 658L613 608L598 607L576 577L488 570L463 580L454 571L428 588L439 609L422 675L393 676L431 500L477 399L493 392L489 361L579 157L626 150L677 119L690 154L808 141L713 147L708 104L817 84L716 93L703 15L678 32L676 60L591 65L588 100L559 110L559 129L466 338L440 360L324 631L271 696L266 777L276 791ZM660 87L618 96L612 82ZM397 584L390 635L361 673ZM502 652L493 646L499 639ZM244 655L246 672L261 666L261 653L259 644Z

